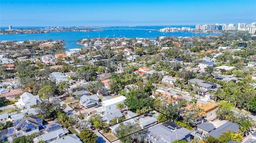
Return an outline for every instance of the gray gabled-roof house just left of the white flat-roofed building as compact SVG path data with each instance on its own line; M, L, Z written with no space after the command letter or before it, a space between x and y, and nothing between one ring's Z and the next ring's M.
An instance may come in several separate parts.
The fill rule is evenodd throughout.
M83 95L80 98L79 104L83 105L86 108L90 108L93 106L97 106L99 104L99 97L97 95L91 95L91 96L87 96L87 95Z

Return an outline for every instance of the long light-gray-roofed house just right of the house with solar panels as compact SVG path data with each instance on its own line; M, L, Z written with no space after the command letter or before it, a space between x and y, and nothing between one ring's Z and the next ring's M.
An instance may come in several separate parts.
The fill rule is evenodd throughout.
M64 137L67 133L68 133L68 129L67 128L62 128L62 129L58 129L55 131L51 131L49 133L44 133L41 136L38 136L36 138L33 139L33 141L35 143L38 143L39 141L44 141L46 143L49 143L53 140L57 140L57 139L61 139L62 137Z

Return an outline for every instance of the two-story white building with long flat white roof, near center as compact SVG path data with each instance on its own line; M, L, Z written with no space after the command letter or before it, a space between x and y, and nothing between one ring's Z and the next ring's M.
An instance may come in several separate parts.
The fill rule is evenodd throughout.
M119 109L116 107L117 104L123 103L126 98L124 96L119 96L116 98L111 98L102 102L102 106L95 108L102 116L113 114L118 112Z

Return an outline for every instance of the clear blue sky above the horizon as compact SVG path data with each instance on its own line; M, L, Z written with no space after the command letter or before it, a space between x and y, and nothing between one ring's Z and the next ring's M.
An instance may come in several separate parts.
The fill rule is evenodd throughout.
M171 26L256 21L256 0L1 0L5 26Z

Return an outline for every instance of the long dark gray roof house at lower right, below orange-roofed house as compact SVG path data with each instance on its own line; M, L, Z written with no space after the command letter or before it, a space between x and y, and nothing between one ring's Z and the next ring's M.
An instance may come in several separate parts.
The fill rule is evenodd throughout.
M206 137L212 136L214 138L218 138L223 132L228 130L237 132L239 131L239 125L228 121L225 124L222 124L220 127L211 130L206 134Z

